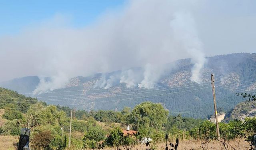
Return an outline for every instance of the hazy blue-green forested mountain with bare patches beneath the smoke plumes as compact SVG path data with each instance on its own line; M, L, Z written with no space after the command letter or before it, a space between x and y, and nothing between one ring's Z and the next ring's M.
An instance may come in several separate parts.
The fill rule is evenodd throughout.
M160 102L171 114L194 118L207 118L214 113L210 75L215 75L217 108L230 112L236 104L244 101L236 92L256 92L256 54L238 53L206 58L202 70L202 84L190 81L190 59L174 62L176 67L164 74L155 88L126 88L126 84L114 82L108 89L96 86L102 77L106 81L120 76L121 71L78 76L70 79L64 88L37 95L48 104L65 105L85 110L122 110L143 101ZM141 68L136 68L140 71ZM38 82L34 82L33 86ZM14 89L15 83L11 84ZM10 86L10 85L8 85ZM30 92L32 92L32 86ZM27 90L28 91L28 90ZM18 90L21 92L21 90ZM248 92L248 91L247 91ZM248 93L250 93L248 92Z

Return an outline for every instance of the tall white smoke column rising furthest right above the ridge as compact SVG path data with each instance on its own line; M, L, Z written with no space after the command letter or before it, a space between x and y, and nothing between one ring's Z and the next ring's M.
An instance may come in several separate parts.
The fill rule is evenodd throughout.
M206 62L202 42L199 40L196 30L196 23L188 12L176 12L171 21L174 36L177 42L180 42L179 49L184 49L190 54L191 62L194 66L191 69L191 81L201 83L201 69Z

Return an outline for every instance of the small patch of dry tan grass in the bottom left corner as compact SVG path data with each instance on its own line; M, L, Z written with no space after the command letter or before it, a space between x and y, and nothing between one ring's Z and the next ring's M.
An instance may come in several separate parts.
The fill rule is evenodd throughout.
M16 140L13 136L0 136L0 150L15 150Z

